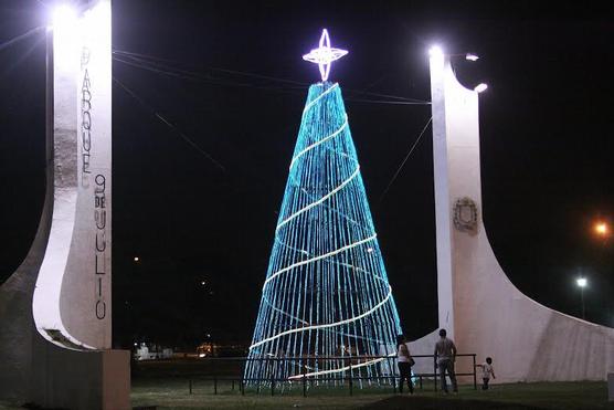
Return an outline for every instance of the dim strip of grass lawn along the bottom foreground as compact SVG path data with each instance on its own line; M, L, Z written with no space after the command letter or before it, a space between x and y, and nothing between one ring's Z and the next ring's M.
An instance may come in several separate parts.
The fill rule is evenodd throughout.
M607 403L605 382L539 382L496 385L493 390L474 390L473 386L462 386L458 395L444 396L432 390L416 390L416 395L393 395L391 389L354 389L349 396L346 388L313 388L304 398L300 387L276 392L263 389L260 393L246 390L241 396L237 386L231 389L227 381L218 385L213 395L213 383L195 380L192 395L186 379L137 380L133 386L134 407L156 407L157 409L560 409L591 410L612 409Z

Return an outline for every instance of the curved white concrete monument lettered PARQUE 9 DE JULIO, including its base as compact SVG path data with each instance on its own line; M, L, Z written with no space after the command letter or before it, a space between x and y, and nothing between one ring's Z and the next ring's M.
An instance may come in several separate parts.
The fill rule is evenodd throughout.
M0 287L0 397L128 409L110 350L110 1L60 9L47 32L46 190L36 236Z

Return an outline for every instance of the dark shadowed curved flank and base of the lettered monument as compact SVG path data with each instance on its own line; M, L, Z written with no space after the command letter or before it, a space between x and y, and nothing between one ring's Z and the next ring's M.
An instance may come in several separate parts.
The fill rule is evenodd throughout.
M129 350L61 348L34 326L32 291L49 238L52 198L47 187L32 248L0 286L0 399L71 410L130 409Z

